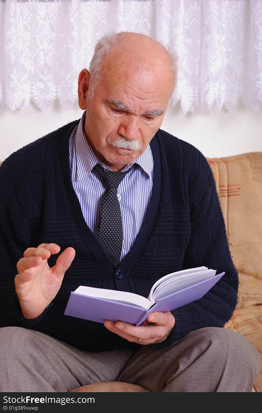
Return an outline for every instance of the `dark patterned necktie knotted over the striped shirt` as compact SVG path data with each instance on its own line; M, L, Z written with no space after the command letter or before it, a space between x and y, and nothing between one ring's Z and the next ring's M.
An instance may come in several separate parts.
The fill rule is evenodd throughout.
M121 180L132 169L133 166L125 172L106 171L99 164L93 168L106 183L106 191L101 202L101 219L97 239L116 266L118 266L123 245L122 216L117 190Z

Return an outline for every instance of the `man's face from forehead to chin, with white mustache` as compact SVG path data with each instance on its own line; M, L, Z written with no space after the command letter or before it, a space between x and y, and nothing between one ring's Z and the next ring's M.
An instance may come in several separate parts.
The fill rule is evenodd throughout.
M92 100L87 94L85 135L113 171L132 164L161 126L172 76L163 81L163 73L155 72L113 65L104 71Z

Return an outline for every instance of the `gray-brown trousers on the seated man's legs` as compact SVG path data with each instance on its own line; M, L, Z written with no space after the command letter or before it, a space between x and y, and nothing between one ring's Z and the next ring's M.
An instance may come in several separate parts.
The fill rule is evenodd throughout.
M0 328L0 392L68 392L120 381L151 392L251 392L260 357L243 335L201 328L172 346L90 353L34 330Z

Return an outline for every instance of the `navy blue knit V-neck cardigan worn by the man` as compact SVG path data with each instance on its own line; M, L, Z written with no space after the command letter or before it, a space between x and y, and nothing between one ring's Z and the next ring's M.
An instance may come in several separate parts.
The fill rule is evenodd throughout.
M79 121L14 152L0 167L0 327L38 330L87 351L139 348L101 323L65 316L70 292L90 285L148 297L163 275L199 266L225 275L203 298L172 311L170 335L149 347L166 347L199 328L223 327L236 307L238 273L208 161L193 145L162 130L156 133L150 142L154 183L149 209L130 252L116 268L87 226L71 183L68 139ZM49 242L59 244L60 253L73 247L76 257L52 305L27 320L14 289L16 264L28 247ZM57 256L48 260L50 267Z

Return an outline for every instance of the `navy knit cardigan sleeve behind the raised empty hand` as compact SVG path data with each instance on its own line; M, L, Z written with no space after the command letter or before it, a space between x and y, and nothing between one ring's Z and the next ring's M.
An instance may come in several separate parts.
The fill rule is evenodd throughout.
M14 183L15 176L19 174L7 164L8 162L5 162L0 167L0 327L33 328L42 320L50 306L40 316L31 320L26 319L21 312L14 278L17 274L17 262L29 246L34 246L31 229L36 221L31 211L26 213L24 210L24 202L17 190L22 190L22 183ZM28 191L30 192L30 188ZM30 207L37 209L33 200Z

